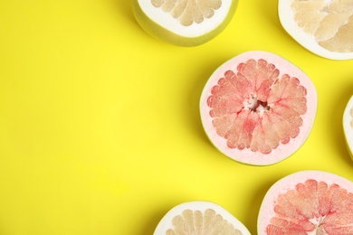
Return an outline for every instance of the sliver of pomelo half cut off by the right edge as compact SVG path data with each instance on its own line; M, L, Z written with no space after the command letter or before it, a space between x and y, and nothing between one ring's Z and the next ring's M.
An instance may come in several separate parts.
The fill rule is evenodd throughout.
M343 113L343 131L346 137L349 154L353 160L353 96L349 99Z

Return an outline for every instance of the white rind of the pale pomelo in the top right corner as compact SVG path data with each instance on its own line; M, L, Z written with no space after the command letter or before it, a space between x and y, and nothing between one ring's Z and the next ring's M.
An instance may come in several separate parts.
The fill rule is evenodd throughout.
M291 0L279 0L278 14L283 29L302 47L320 57L333 60L343 61L352 60L353 52L331 52L320 46L316 42L315 37L309 33L305 33L301 27L294 21L294 14L291 11Z

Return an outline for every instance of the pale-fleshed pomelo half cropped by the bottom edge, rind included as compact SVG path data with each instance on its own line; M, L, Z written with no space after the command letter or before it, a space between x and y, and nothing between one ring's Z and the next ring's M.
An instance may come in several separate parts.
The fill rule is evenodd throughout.
M159 221L154 235L250 235L230 212L214 202L195 201L177 205Z

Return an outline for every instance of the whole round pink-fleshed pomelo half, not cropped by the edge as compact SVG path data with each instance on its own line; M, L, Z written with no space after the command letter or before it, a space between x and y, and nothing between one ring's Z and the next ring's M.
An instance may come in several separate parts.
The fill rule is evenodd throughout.
M271 52L244 52L209 78L200 99L205 133L244 164L275 164L310 134L317 93L310 78Z

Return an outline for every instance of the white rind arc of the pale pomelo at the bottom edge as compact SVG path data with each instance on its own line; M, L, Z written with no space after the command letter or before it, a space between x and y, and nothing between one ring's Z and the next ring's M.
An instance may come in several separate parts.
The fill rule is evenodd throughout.
M207 201L183 202L176 205L170 211L167 211L162 220L159 221L153 234L165 235L168 229L174 228L174 225L172 224L173 218L176 215L180 215L185 210L205 212L207 209L212 209L216 213L222 215L225 221L233 224L235 229L243 232L243 235L250 235L250 231L243 225L241 221L236 219L233 214L231 214L229 211L226 211L224 207L220 206L219 204Z

